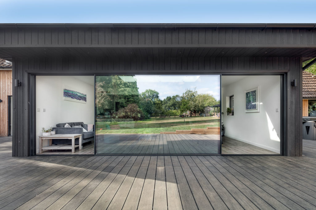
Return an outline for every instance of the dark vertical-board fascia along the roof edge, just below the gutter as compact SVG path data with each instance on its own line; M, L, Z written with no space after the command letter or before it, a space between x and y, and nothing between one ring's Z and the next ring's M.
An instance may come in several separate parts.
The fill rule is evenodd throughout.
M0 45L312 45L308 29L0 28Z

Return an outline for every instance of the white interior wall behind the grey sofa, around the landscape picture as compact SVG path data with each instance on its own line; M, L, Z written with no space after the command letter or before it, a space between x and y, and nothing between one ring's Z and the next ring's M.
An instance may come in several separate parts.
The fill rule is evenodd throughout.
M65 101L64 85L87 93L87 103ZM94 124L94 77L36 76L36 153L40 151L38 136L42 135L42 127L48 129L65 122ZM47 144L43 141L43 145Z

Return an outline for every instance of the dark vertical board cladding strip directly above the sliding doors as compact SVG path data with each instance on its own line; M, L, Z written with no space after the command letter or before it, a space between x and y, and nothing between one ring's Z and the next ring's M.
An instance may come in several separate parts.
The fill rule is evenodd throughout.
M280 73L289 70L289 57L116 57L25 58L28 73ZM208 71L211 70L211 71ZM215 71L213 71L215 70Z

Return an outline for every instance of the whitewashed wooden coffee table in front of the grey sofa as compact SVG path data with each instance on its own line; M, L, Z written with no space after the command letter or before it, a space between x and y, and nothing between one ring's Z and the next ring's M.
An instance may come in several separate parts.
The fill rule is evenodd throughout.
M82 149L82 134L55 134L50 136L39 136L40 137L40 153L43 153L43 149L71 149L71 152L75 152L75 148L79 147L79 150ZM75 139L79 138L79 145L75 145ZM43 140L49 139L49 146L43 147ZM70 139L71 145L52 145L52 139Z

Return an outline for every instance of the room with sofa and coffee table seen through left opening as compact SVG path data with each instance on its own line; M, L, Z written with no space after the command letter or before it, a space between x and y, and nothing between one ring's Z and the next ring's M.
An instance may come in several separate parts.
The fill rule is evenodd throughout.
M94 155L94 76L36 76L35 113L37 155Z

